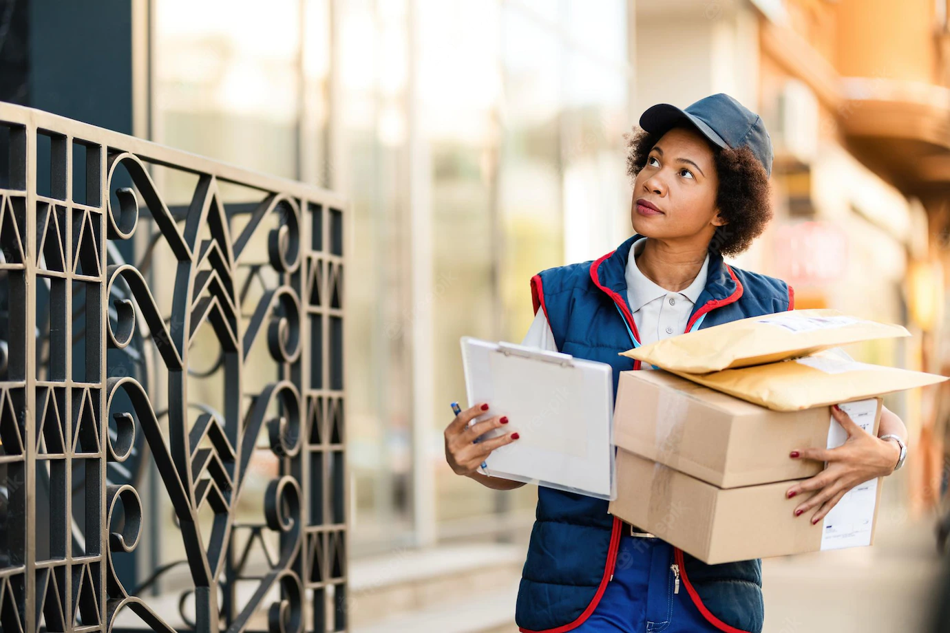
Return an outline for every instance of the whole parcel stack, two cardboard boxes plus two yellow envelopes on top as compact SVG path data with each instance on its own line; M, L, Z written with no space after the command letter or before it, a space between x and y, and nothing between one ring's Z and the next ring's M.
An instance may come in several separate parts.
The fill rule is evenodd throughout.
M796 321L799 315L794 312L782 315L783 324L795 327L805 322L813 326L816 320L822 324L822 319L837 320L840 315L832 310L801 312L801 321ZM676 357L675 362L670 363L675 374L663 369L621 373L614 413L617 498L611 502L610 512L710 564L870 545L881 496L880 478L852 489L824 521L814 525L809 519L815 510L797 517L793 513L811 493L790 499L786 495L795 480L816 475L824 467L813 460L790 458L792 450L831 448L846 438L831 416L829 404L835 400L828 400L821 389L808 387L808 381L821 382L823 377L808 376L807 372L826 372L830 366L827 363L834 364L823 350L835 344L835 336L851 343L860 340L855 339L860 332L855 327L842 327L829 334L833 327L814 326L814 336L807 336L805 329L805 336L799 337L798 342L788 337L777 341L782 337L770 340L762 336L762 323L759 320L753 324L757 341L750 343L747 337L742 342L750 349L746 357L716 354L712 331L716 328L724 328L730 343L724 349L731 347L734 351L739 346L736 342L741 337L736 331L741 334L741 324L727 324L730 327L699 330L697 333L703 333L704 338L691 333L659 342L667 349L678 345L671 355ZM866 326L868 322L850 317L833 323L867 327L866 338L906 332L900 326L886 326L894 328L890 333L886 328L874 332L873 324ZM765 332L769 334L769 327ZM695 358L690 357L687 337L698 341L695 348L705 355L695 366L702 369L703 363L711 362L720 362L722 366L706 373L683 371L683 367L695 369L690 365ZM662 367L662 351L655 344L626 354ZM803 356L820 363L778 366ZM766 362L755 365L750 359ZM772 394L768 387L761 388L761 384L750 380L759 373L756 367L779 376L777 384L793 382L794 388L785 394ZM866 371L867 365L841 371L839 368L835 365L832 370L838 371L835 375L841 380L842 372ZM898 378L910 381L907 384L917 381L915 386L946 380L921 372L905 372ZM749 383L756 389L746 393L744 389ZM735 387L736 384L739 386ZM872 387L877 391L868 393L866 381L848 386L853 388L834 392L842 394L841 408L865 432L877 435L883 407L880 395L888 389ZM897 385L889 390L900 388L907 387ZM798 406L796 402L804 404Z

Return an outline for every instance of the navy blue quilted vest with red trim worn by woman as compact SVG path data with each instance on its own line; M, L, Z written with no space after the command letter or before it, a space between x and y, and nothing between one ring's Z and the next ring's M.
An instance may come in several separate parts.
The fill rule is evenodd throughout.
M639 340L624 272L631 245L643 238L635 234L596 261L542 270L531 279L535 312L544 310L558 349L609 363L615 398L619 373L639 369L639 361L618 353L633 346L628 326ZM700 317L700 328L711 327L791 309L793 302L793 291L784 281L732 268L711 251L706 288L693 307L687 331ZM620 526L620 520L607 513L607 501L538 489L515 614L524 633L561 633L587 619L613 574ZM762 630L760 560L706 565L680 549L675 556L683 585L710 623L731 633Z

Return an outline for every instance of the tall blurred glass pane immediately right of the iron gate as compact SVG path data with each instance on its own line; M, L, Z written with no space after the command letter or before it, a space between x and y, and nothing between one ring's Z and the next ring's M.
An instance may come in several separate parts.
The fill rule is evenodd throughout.
M338 3L342 163L351 204L348 434L354 551L409 540L411 318L405 0ZM358 280L358 281L357 281Z

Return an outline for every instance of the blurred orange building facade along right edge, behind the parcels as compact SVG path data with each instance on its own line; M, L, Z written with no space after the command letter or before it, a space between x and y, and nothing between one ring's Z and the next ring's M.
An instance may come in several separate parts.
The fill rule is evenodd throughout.
M856 356L950 373L947 3L803 0L766 15L760 100L778 137L788 219L773 226L764 266L802 277L798 307L839 307L912 334L856 346ZM780 260L789 252L797 264ZM808 262L822 265L798 268ZM945 487L948 396L941 386L887 402L917 444L894 491L916 511Z

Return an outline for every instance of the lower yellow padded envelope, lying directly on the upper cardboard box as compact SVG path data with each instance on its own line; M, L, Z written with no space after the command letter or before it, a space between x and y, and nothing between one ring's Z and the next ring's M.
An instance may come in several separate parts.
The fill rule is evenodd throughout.
M671 373L773 411L798 411L947 380L945 376L847 361L831 351L708 374Z

